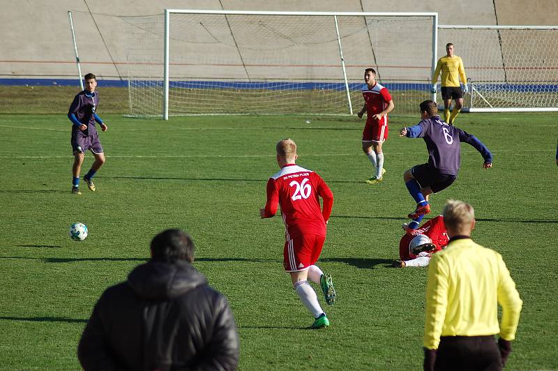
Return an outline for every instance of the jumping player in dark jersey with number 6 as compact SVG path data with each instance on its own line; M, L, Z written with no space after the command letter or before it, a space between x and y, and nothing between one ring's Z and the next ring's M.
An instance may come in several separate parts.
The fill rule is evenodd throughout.
M416 165L404 174L405 185L416 201L416 209L408 215L413 219L404 229L416 229L423 215L430 213L428 196L448 188L458 176L461 162L461 143L473 146L483 156L483 167L492 167L492 153L465 130L448 125L437 114L436 103L425 100L420 105L422 121L410 128L402 128L400 136L423 138L428 149L428 162Z

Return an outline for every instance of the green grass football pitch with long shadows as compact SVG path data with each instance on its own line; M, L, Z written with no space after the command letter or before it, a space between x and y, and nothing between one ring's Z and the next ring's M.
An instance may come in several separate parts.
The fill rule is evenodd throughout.
M144 262L151 238L169 227L192 234L195 266L229 298L241 370L421 369L427 269L390 266L414 209L402 173L427 158L421 139L397 134L418 116L391 116L385 181L372 186L363 183L371 167L356 118L165 122L100 107L107 163L97 192L82 184L77 196L66 109L0 115L2 370L79 369L77 341L98 296ZM474 239L504 256L524 301L506 370L558 369L556 116L462 114L457 125L488 146L494 167L483 170L480 154L463 144L458 180L432 197L430 215L448 198L471 203ZM333 275L338 302L325 308L331 327L322 331L306 329L312 316L282 271L281 219L259 219L284 137L335 195L318 264ZM82 243L68 236L78 221L89 227Z

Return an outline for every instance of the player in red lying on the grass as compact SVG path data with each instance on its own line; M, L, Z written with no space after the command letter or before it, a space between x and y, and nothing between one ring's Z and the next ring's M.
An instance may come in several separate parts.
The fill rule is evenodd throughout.
M444 217L438 215L418 229L406 229L399 241L399 257L393 266L428 266L430 256L448 245Z

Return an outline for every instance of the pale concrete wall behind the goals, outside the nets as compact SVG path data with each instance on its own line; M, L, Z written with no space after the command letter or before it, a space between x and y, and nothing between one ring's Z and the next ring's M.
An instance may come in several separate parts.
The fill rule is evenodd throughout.
M73 78L77 75L68 10L73 11L82 72L100 79L126 79L129 22L113 15L162 14L164 8L438 12L440 24L558 24L556 0L471 0L392 2L371 0L27 0L1 1L0 78ZM427 36L429 37L429 36ZM444 54L440 40L439 56ZM398 47L394 43L393 52ZM440 48L439 47L439 48ZM541 45L541 48L545 47ZM459 50L459 46L456 45ZM153 50L153 53L159 53ZM234 52L234 51L232 51ZM428 66L429 62L422 62Z

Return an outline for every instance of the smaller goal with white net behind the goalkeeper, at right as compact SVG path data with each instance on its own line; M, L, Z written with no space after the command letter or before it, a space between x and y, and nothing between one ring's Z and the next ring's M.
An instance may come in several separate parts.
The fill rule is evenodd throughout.
M469 112L558 111L558 27L440 26L438 40L463 59Z

